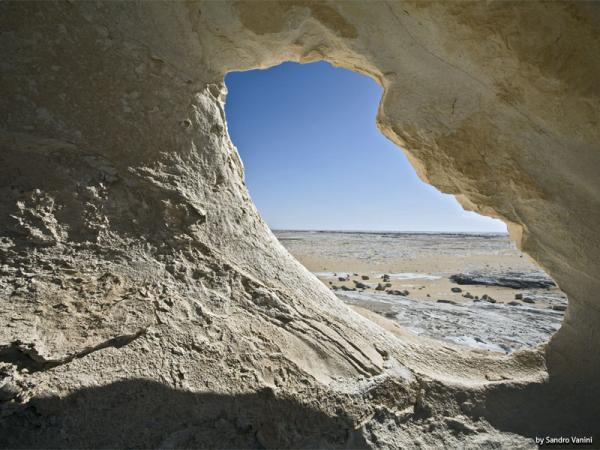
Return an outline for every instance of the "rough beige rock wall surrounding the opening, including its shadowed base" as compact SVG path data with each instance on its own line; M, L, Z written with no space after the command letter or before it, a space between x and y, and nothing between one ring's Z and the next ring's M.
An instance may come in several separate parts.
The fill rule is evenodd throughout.
M528 447L597 431L581 399L600 374L598 6L0 12L1 446ZM380 129L419 175L504 219L568 294L546 348L393 336L279 245L244 186L223 77L319 59L376 79Z

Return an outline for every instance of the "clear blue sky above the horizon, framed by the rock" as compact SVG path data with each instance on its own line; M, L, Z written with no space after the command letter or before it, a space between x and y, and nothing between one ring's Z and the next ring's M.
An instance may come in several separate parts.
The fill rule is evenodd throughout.
M417 177L377 129L382 89L325 62L225 78L229 133L272 229L499 231Z

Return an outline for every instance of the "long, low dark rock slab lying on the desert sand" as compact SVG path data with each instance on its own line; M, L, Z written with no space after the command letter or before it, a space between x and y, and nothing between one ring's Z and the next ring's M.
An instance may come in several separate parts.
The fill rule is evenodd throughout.
M475 284L483 286L501 286L513 289L546 289L556 286L545 273L541 272L469 272L452 275L450 280L456 284Z

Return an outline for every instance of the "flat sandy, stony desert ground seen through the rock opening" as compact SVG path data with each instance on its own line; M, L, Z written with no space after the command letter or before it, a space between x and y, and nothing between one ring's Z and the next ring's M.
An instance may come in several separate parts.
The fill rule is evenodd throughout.
M513 289L450 280L469 272L543 277L506 235L276 235L340 299L395 334L510 353L546 342L562 322L564 311L556 308L565 307L566 297L556 287ZM488 297L494 301L482 300Z

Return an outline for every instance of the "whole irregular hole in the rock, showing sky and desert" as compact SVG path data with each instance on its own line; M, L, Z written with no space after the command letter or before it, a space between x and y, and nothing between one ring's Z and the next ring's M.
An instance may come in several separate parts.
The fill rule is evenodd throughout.
M504 353L559 329L566 296L505 224L421 181L377 129L375 81L321 61L225 82L229 133L261 216L357 312Z

